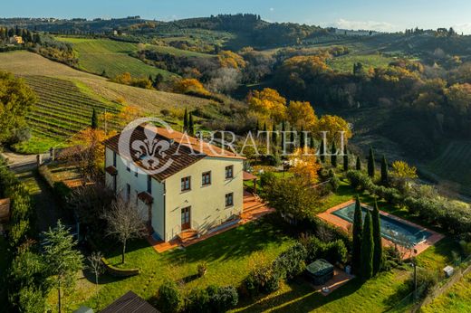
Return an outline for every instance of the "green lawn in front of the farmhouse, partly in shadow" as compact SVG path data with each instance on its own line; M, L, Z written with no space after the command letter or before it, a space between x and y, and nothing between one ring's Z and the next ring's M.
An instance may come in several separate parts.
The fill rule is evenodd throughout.
M204 242L157 253L142 240L131 242L126 254L127 268L139 267L138 276L127 279L114 279L104 276L100 285L100 308L119 298L127 290L133 290L144 299L152 300L159 285L165 279L187 280L185 289L205 287L209 284L238 286L248 274L248 266L255 252L260 252L267 260L286 250L294 240L268 222L247 223L236 229L221 233ZM120 246L116 251L107 253L112 264L120 263ZM197 264L207 261L207 274L195 279ZM69 310L78 308L82 303L96 308L94 285L91 277L79 280L77 291L65 299ZM55 293L51 293L50 303L55 303Z

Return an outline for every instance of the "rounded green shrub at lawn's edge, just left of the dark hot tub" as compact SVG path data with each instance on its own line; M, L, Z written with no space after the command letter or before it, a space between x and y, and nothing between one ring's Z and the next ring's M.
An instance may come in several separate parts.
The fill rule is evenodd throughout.
M307 250L301 243L295 243L274 260L274 270L282 277L291 280L303 273L306 268Z

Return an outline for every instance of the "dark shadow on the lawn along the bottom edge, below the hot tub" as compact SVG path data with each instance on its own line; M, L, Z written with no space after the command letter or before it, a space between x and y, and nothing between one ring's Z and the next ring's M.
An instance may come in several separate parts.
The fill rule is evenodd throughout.
M261 312L266 308L274 308L274 312L307 312L351 295L360 289L362 284L361 280L353 279L339 289L332 291L330 295L323 296L314 289L309 281L300 277L287 283L291 290L274 298L259 299L256 303L241 310L241 312ZM287 304L284 305L285 303ZM242 301L241 305L245 306L247 302Z

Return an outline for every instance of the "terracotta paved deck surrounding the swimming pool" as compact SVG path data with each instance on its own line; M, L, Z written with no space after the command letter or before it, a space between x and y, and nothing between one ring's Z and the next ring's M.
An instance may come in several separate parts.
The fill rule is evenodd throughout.
M342 208L344 208L344 207L346 207L350 204L354 204L354 203L355 203L355 200L350 200L350 201L347 201L343 204L338 204L338 205L332 206L332 208L330 208L329 210L327 210L323 213L317 214L317 216L319 216L320 218L322 218L322 220L324 220L326 222L332 223L335 226L341 227L343 230L345 230L347 232L350 232L351 231L351 223L344 220L344 219L342 219L341 217L339 217L337 215L334 215L333 212L335 212L337 210L340 210L340 209L342 209ZM368 204L361 204L361 206L371 208L370 205L368 205ZM420 230L431 233L431 235L425 241L419 242L418 244L416 244L414 246L413 249L415 249L417 251L416 255L420 254L423 251L426 251L428 249L428 247L434 245L435 243L439 242L440 240L442 240L445 237L441 233L429 230L428 228L420 226L417 223L412 223L412 222L409 222L407 220L401 219L396 215L393 215L393 214L390 214L390 213L387 213L387 212L384 212L384 211L380 211L380 213L385 215L385 216L388 216L389 218L391 218L393 220L399 221L400 223L405 223L405 224L408 224L410 226L416 227ZM383 246L393 246L393 245L395 245L394 242L391 242L391 241L385 239L384 237L381 237L381 239L382 239ZM407 251L406 253L404 253L403 259L409 259L412 256L412 253L413 253L412 251Z

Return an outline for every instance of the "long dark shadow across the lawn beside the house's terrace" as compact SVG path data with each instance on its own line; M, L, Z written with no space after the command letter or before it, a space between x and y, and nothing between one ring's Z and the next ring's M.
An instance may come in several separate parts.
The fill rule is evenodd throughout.
M188 246L185 250L168 251L168 261L185 259L187 262L225 261L244 258L255 251L263 251L267 245L280 245L289 238L286 233L276 227L269 216L214 237L207 238Z

